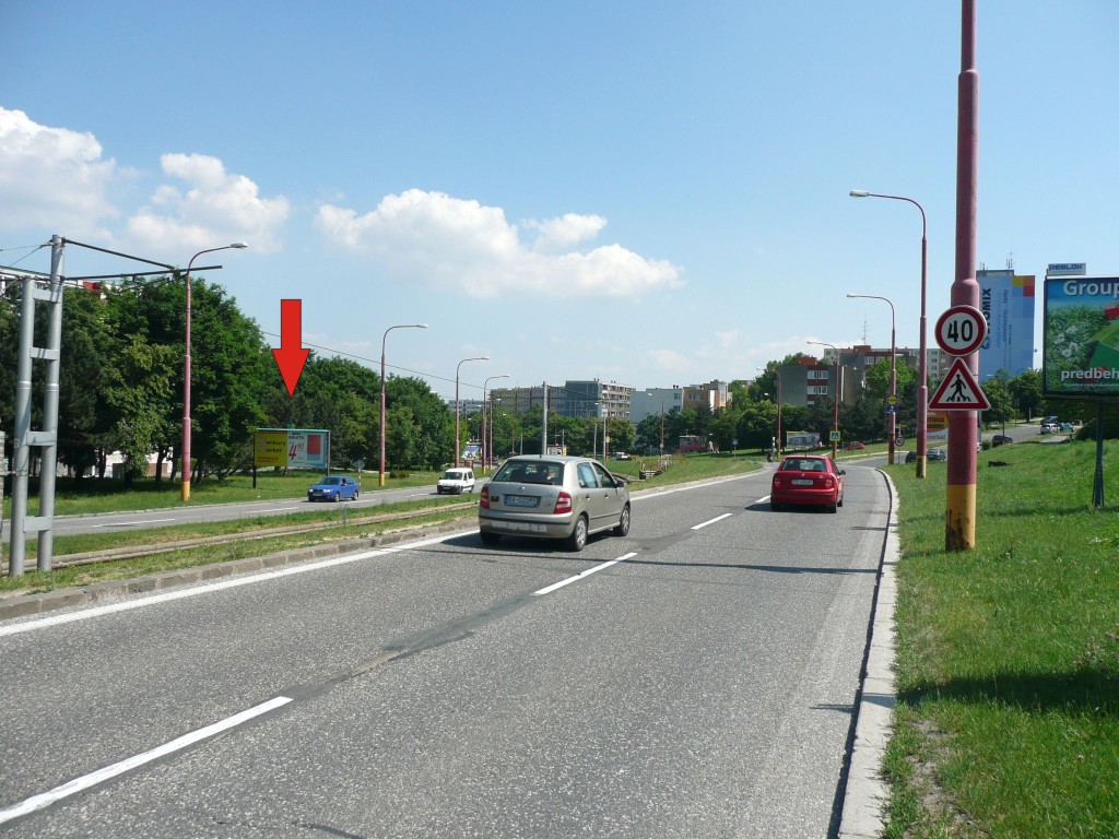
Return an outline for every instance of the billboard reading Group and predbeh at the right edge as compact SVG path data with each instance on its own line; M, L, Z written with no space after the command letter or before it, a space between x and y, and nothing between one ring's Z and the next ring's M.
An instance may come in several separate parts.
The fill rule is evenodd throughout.
M1046 396L1119 396L1119 277L1045 281Z

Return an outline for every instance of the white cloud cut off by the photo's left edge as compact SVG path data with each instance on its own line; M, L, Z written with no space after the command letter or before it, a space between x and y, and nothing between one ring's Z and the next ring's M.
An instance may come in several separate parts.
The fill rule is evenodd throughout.
M105 197L116 173L88 132L39 125L0 107L0 227L46 228L66 236L104 236L116 215Z

